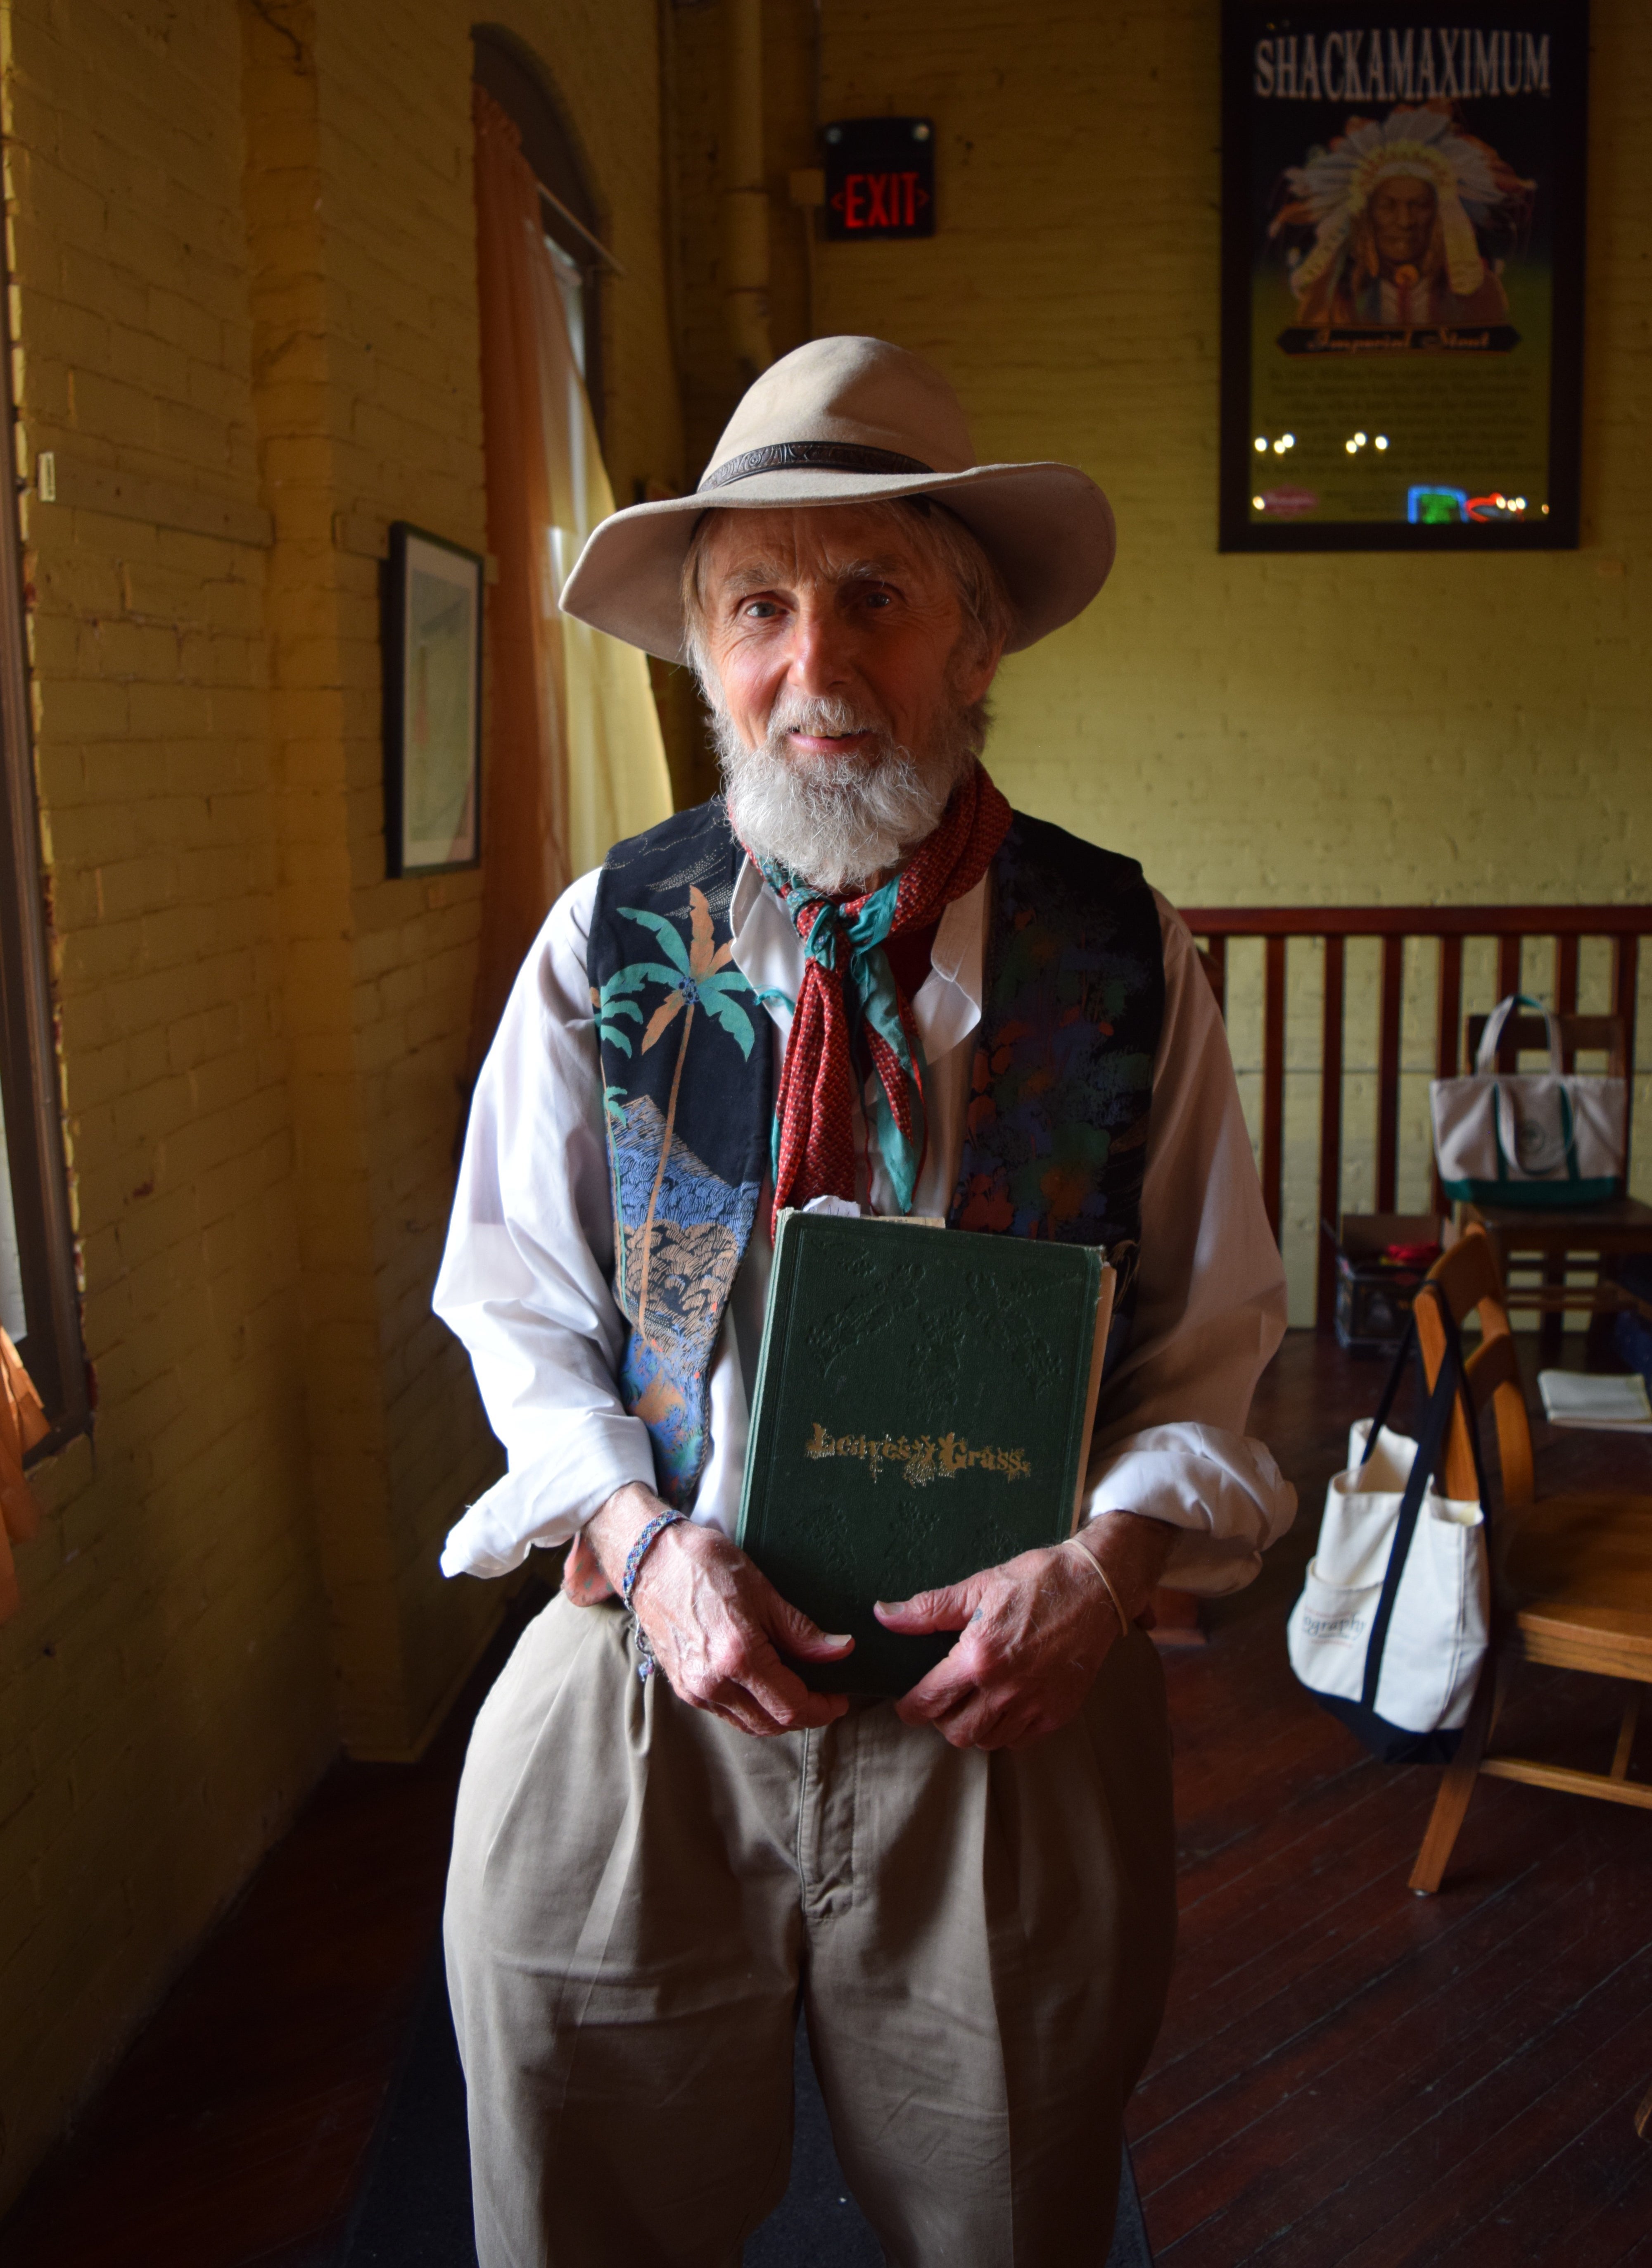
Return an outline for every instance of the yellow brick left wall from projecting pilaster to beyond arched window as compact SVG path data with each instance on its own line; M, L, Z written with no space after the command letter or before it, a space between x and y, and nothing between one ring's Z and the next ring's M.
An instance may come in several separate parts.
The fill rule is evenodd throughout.
M512 5L494 20L539 59L625 270L603 293L614 488L680 481L655 11ZM496 1452L428 1313L480 882L383 880L376 562L333 549L331 519L485 544L471 16L421 0L390 45L360 0L263 9L247 27L256 363L276 379L261 399L276 733L304 792L288 798L286 889L315 1495L347 1737L381 1755L428 1730L496 1613L489 1585L435 1567Z

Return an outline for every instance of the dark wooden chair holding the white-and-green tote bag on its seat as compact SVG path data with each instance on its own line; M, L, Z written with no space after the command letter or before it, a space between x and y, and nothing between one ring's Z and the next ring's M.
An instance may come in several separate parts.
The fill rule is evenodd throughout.
M1468 1018L1468 1061L1480 1055L1487 1016ZM1557 1016L1561 1066L1573 1070L1579 1055L1604 1055L1607 1073L1627 1077L1629 1041L1623 1016ZM1548 1030L1541 1016L1509 1016L1498 1043L1498 1068L1514 1070L1523 1052L1548 1055ZM1625 1254L1652 1254L1652 1204L1636 1198L1613 1198L1609 1204L1555 1207L1527 1211L1512 1204L1464 1204L1464 1227L1482 1227L1493 1243L1505 1286L1512 1268L1541 1268L1541 1288L1507 1288L1505 1306L1541 1311L1539 1347L1545 1363L1559 1361L1566 1311L1611 1315L1647 1304L1602 1275L1602 1263ZM1591 1268L1595 1284L1568 1284L1568 1270ZM1652 1318L1647 1318L1652 1320ZM1591 1340L1593 1343L1593 1340Z

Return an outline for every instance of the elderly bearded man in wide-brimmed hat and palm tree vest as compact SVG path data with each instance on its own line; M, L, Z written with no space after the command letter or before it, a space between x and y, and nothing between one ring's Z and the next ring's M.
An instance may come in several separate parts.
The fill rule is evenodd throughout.
M1294 1508L1244 1438L1283 1275L1192 941L981 767L999 655L1110 560L1081 472L974 465L934 370L832 338L564 592L693 660L725 796L553 907L437 1286L510 1452L446 1572L573 1545L453 1835L485 2268L736 2263L800 2007L891 2261L1106 2254L1174 1937L1138 1617L1249 1581ZM897 1703L811 1692L848 1640L732 1542L773 1211L823 1198L1124 1284L1079 1538L879 1606L959 1633Z

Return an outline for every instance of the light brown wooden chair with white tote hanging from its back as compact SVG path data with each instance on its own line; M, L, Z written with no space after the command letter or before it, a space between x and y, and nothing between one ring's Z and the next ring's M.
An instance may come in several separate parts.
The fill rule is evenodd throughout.
M1468 1393L1475 1411L1491 1404L1502 1501L1487 1522L1493 1569L1491 1644L1457 1758L1446 1767L1416 1853L1412 1889L1419 1896L1439 1889L1480 1774L1652 1810L1652 1783L1629 1778L1641 1694L1652 1685L1652 1497L1536 1497L1532 1427L1487 1232L1468 1229L1434 1261L1428 1281L1439 1286L1453 1320L1462 1322L1471 1309L1480 1311L1482 1338L1466 1363ZM1428 1295L1416 1300L1416 1336L1432 1386L1446 1354L1446 1331ZM1446 1495L1473 1497L1475 1465L1462 1411L1444 1463ZM1589 1669L1627 1683L1609 1771L1573 1771L1487 1753L1509 1674L1521 1660Z

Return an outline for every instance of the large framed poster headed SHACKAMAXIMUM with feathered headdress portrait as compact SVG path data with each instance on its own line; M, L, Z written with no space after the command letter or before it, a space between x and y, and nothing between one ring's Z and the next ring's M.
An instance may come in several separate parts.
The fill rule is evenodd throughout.
M1221 549L1577 542L1586 0L1224 0Z

